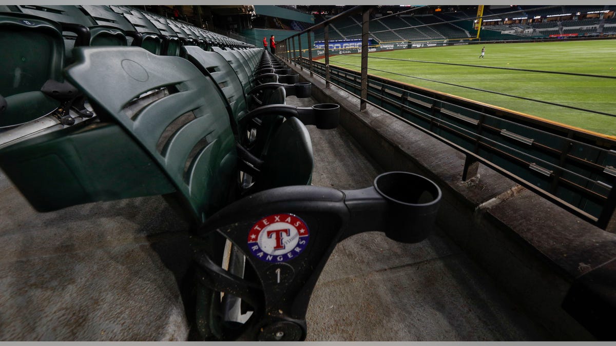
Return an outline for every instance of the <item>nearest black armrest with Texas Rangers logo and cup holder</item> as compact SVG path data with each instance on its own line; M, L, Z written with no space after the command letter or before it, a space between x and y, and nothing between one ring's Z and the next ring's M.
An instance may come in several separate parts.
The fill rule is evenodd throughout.
M232 294L260 307L244 326L245 339L265 340L269 326L275 326L285 328L290 340L302 340L310 295L336 243L366 231L418 243L431 233L441 195L434 182L407 172L381 174L373 187L360 190L290 186L254 193L212 215L197 236L217 232L230 239L254 269L261 296L257 287L227 275L197 251L202 277L209 279L203 283L234 289ZM277 241L280 252L266 253L265 238Z

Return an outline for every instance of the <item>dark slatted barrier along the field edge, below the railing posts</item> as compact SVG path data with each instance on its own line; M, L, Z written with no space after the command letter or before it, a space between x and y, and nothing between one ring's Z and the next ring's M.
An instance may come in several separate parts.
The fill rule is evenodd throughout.
M304 58L299 63L305 68L309 68L307 59ZM325 64L313 62L313 66L314 73L321 78L325 78ZM352 94L360 95L362 86L359 71L331 66L330 73L330 82L338 84ZM616 164L616 140L551 123L541 124L536 122L529 124L528 121L524 122L525 119L514 112L511 112L508 116L502 115L506 111L501 108L490 110L486 105L482 105L483 111L474 110L467 107L467 104L461 103L463 99L436 91L430 91L429 95L426 95L425 92L428 89L413 87L378 76L368 75L367 88L368 103L387 111L392 116L418 128L431 137L441 140L456 148L456 150L462 151L467 156L467 160L485 164L485 166L500 172L514 182L598 227L605 229L612 218L616 207L614 203L616 199L616 188L614 188L616 187L616 169L609 164L600 164L575 156L570 148L594 151L592 156L603 158L604 162L611 159ZM400 102L402 100L403 102ZM463 101L469 103L468 100ZM490 114L492 111L499 113L500 116ZM432 128L422 127L413 118L423 119L426 123L431 124ZM522 131L557 138L566 143L565 149L548 147L544 143L518 134L516 131L494 128L487 124L486 118L498 119L510 124L510 126L520 127ZM478 131L469 131L469 128L476 128ZM498 137L500 140L485 135L477 137L477 132L481 132L479 129L482 129L481 131L484 131L484 133L485 131L492 131L492 135L500 136ZM444 131L466 141L474 140L474 144L471 147L464 147L454 140L445 139L442 136ZM562 132L562 134L558 132ZM507 144L506 141L514 144ZM473 150L472 147L475 145L483 150L490 151L493 155L506 157L511 162L511 167L524 166L527 172L512 172L511 169L493 163L490 159L482 157L476 150ZM528 148L527 151L525 151L525 147ZM550 163L541 159L541 156L537 156L537 152L540 155L553 155L554 160L560 159L561 162ZM572 164L581 166L590 173L584 175L565 167ZM470 164L465 164L465 170L470 166ZM472 177L474 174L469 175L465 171L463 175ZM547 183L549 188L544 189L535 185L539 180L533 182L533 175L540 177L541 182ZM590 176L596 178L591 179ZM573 198L559 196L556 192L559 189L567 189L569 193L577 195ZM578 201L574 201L575 199L578 199Z

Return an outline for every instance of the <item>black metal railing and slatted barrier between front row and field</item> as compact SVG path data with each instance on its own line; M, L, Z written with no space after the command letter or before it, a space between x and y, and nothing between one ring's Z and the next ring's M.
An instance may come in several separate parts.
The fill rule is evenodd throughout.
M368 74L372 7L353 7L285 39L279 55L325 79L326 87L333 83L359 96L360 111L370 103L462 151L463 180L474 177L482 163L607 228L616 208L616 140ZM363 19L360 71L330 66L330 23L358 13ZM320 29L325 33L325 63L314 61L310 49L311 33ZM308 57L302 52L302 35Z

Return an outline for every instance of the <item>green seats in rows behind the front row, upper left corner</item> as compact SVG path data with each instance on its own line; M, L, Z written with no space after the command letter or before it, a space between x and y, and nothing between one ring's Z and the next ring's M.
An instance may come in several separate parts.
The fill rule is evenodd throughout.
M47 42L47 44L44 44ZM251 47L127 6L0 6L0 129L53 115L63 125L92 113L60 71L78 46L139 46L153 54L180 54L182 45L209 49ZM10 49L6 49L10 47ZM5 56L6 54L6 56ZM70 110L76 111L70 116ZM81 117L81 118L80 118Z

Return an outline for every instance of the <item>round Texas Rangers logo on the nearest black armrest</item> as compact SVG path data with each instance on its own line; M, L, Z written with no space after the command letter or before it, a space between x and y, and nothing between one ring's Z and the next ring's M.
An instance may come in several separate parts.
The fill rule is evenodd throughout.
M257 221L248 233L248 247L264 262L280 263L298 257L308 245L304 220L291 214L275 214Z

